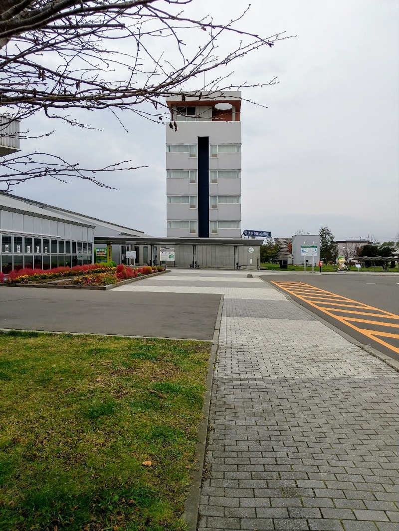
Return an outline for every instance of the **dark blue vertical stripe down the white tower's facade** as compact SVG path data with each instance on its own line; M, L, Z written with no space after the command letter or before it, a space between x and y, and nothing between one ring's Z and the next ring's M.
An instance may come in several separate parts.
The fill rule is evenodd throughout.
M198 136L198 237L209 238L209 136Z

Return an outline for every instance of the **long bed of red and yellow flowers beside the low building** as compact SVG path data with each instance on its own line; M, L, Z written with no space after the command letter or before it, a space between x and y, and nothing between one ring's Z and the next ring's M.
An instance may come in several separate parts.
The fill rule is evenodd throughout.
M37 285L57 280L59 286L109 286L128 279L152 275L164 271L162 267L144 265L141 268L119 264L76 265L73 268L20 269L11 271L8 278L0 276L0 282L8 285ZM71 278L72 277L72 278ZM73 278L75 277L75 278Z

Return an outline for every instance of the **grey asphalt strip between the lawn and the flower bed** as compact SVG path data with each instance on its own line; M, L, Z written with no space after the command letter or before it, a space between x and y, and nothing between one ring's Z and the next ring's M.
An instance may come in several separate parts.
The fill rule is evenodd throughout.
M221 295L0 288L0 329L212 340Z

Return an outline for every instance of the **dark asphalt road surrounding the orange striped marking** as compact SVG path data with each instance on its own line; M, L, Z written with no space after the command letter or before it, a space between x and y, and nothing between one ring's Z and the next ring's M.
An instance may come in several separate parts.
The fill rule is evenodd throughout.
M363 273L359 273L359 275L348 275L346 273L339 273L337 275L312 275L309 273L309 275L263 275L261 278L266 282L304 282L305 284L325 289L328 292L348 297L354 301L359 301L379 308L380 310L399 315L399 275L364 275ZM272 286L275 287L274 284L272 284ZM391 349L384 347L384 345L380 345L378 342L366 337L356 330L353 330L344 323L315 309L315 307L307 304L305 301L302 301L283 290L282 293L290 296L294 301L306 307L323 320L333 324L334 327L344 331L349 336L353 337L355 341L358 341L363 345L369 345L394 359L399 359L398 354ZM399 342L397 342L397 346L399 346Z

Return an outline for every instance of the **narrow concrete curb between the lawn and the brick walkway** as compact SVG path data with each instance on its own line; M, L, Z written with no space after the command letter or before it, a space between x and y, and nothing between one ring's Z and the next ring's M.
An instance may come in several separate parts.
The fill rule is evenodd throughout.
M222 320L224 295L221 295L218 316L216 317L215 331L213 332L213 341L211 349L211 357L209 360L208 372L206 375L205 386L206 391L204 395L204 402L202 406L203 419L198 426L196 447L196 461L198 466L193 470L192 483L188 490L188 497L184 506L183 518L186 521L188 531L196 531L198 512L200 511L200 495L202 483L202 471L205 463L206 440L209 425L209 412L211 406L211 393L213 383L213 373L216 361L216 350L218 349L220 323Z

